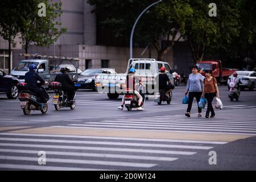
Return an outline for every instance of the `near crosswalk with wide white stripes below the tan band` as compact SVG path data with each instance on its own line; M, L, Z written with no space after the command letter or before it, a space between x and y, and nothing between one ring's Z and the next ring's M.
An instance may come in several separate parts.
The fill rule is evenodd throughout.
M138 170L154 169L212 150L227 142L0 133L0 169ZM39 151L46 165L39 165Z

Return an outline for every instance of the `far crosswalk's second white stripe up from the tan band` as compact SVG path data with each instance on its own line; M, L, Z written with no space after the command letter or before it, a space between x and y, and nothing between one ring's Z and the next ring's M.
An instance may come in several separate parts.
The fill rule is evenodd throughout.
M108 122L106 122L106 123L104 123L104 122L91 122L92 124L98 124L99 126L111 126L112 127L112 125L113 125L113 127L115 127L115 126L120 126L120 127L126 127L126 126L131 126L131 127L133 127L133 126L138 126L138 127L141 127L141 126L145 126L144 128L154 128L154 127L146 127L146 126L158 126L158 125L150 125L150 124L139 124L139 123L137 123L137 124L133 124L133 123L108 123ZM84 124L71 124L71 125L68 125L68 126L97 126L97 125L91 125L91 123L86 123L86 125L84 125ZM253 129L251 129L251 127L247 127L247 126L245 126L246 128L245 129L243 129L243 128L241 128L241 127L236 127L236 126L234 126L234 127L231 127L231 126L228 126L228 127L208 127L208 125L207 126L192 126L192 125L188 125L188 126L186 126L186 125L184 125L184 126L177 126L177 125L162 125L163 127L162 127L162 129L164 128L164 126L166 126L166 128L172 128L172 127L181 127L181 128L189 128L189 129L230 129L230 130L236 130L236 129L238 129L238 130L240 130L240 129L242 129L242 130L253 130L253 131L255 131L256 132L256 128L255 127L253 127ZM155 127L155 128L161 128L161 127Z

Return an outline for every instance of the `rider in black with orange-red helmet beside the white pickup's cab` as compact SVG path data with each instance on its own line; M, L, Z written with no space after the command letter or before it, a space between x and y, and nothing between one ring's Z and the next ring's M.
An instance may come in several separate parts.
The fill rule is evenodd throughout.
M160 68L160 73L156 77L156 84L157 84L156 88L158 88L159 90L165 90L166 97L170 98L169 93L174 89L174 85L172 85L171 80L166 74L166 68L164 67Z

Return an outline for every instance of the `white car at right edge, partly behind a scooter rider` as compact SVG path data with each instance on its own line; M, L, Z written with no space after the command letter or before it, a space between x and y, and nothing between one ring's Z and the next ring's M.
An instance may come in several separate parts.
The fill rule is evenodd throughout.
M250 90L254 90L256 85L256 72L253 71L236 71L237 77L240 78L242 84L240 84L241 89L249 88ZM232 75L228 78L228 85ZM228 88L229 89L229 88Z

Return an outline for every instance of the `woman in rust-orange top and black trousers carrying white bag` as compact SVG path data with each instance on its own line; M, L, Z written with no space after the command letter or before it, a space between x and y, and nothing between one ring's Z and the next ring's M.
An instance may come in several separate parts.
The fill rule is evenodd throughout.
M217 80L212 76L211 70L205 71L203 94L201 97L205 97L208 103L205 118L209 118L210 113L210 118L214 118L215 113L212 106L212 101L214 97L220 98L220 96L218 93Z

